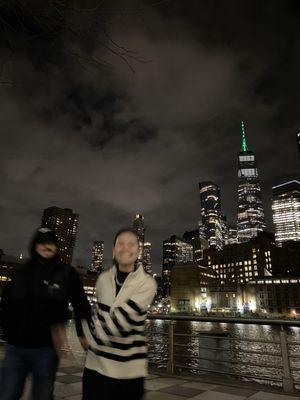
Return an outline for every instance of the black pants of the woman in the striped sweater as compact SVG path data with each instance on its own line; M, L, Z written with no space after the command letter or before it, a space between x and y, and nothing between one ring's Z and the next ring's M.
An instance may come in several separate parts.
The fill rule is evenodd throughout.
M82 400L141 400L144 378L114 379L85 368L82 378Z

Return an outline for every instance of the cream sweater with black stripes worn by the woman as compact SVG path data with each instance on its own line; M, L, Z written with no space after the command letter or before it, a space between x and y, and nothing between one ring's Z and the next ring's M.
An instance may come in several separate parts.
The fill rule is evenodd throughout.
M116 296L116 272L112 267L99 276L96 312L92 321L83 321L90 345L86 368L111 378L134 379L147 375L144 328L156 282L139 267Z

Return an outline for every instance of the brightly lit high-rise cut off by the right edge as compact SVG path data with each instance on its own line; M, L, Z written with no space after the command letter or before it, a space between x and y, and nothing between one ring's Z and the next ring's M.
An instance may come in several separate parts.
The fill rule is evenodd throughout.
M300 240L300 182L293 180L274 186L272 211L275 240L281 245L288 240Z

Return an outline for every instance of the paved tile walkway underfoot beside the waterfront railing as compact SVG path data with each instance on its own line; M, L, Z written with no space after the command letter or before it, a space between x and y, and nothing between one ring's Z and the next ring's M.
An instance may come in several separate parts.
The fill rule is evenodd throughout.
M3 349L1 349L3 350ZM1 360L0 350L0 360ZM63 360L55 383L55 400L81 400L83 357ZM196 377L149 375L144 400L300 400L300 393L283 394L279 390L233 382L208 383ZM0 387L1 390L1 387ZM30 381L21 400L30 400ZM101 394L99 395L101 400Z

